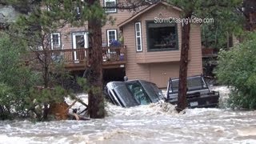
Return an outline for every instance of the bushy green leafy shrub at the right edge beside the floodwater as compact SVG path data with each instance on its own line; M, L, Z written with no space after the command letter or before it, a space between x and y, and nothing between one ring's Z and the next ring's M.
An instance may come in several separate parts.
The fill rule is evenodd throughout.
M219 53L215 71L218 82L232 88L228 100L231 107L256 109L256 38L248 40L231 50Z

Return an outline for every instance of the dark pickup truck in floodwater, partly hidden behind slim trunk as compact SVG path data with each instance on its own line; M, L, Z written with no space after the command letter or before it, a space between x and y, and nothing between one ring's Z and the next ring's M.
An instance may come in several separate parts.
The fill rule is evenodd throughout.
M186 99L190 108L217 107L219 93L211 91L202 75L187 78ZM170 78L167 86L166 102L178 102L178 78Z

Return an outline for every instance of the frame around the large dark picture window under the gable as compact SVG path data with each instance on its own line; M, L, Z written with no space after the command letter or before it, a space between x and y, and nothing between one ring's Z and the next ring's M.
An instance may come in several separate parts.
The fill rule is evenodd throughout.
M150 49L150 38L149 38L149 24L155 23L154 21L146 21L146 44L147 44L147 52L154 52L154 51L171 51L171 50L179 50L178 46L178 24L177 23L170 23L170 25L174 25L175 33L176 33L176 46L174 48L166 48L166 49ZM155 23L156 24L156 23ZM166 23L164 23L166 24Z

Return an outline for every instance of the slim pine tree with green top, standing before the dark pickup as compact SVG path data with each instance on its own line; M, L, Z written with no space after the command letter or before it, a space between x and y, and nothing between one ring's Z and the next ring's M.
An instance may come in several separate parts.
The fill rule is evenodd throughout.
M210 13L213 8L219 10L232 10L233 6L242 4L242 0L169 0L167 1L174 6L182 9L182 18L191 19L192 16L203 17L203 14ZM188 52L190 50L190 21L182 23L182 50L179 70L179 83L178 83L178 112L187 107L186 92L187 92L187 68L188 68Z

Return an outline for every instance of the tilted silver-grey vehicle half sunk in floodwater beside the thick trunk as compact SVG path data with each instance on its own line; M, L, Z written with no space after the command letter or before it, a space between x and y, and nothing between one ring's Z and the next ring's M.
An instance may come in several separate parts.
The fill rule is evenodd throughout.
M104 93L112 103L122 107L147 105L164 98L158 86L143 80L108 82Z

